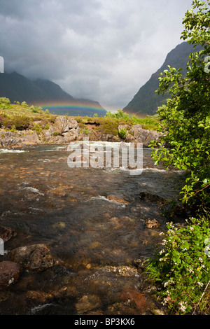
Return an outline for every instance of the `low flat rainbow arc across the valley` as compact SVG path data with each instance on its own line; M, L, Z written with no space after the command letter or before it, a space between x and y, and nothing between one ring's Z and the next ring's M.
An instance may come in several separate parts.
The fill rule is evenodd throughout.
M93 116L97 113L98 116L105 116L106 110L97 102L82 101L82 102L43 102L36 104L41 106L45 111L48 109L50 113L69 116Z

